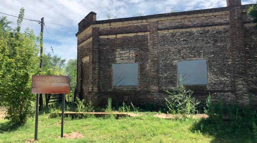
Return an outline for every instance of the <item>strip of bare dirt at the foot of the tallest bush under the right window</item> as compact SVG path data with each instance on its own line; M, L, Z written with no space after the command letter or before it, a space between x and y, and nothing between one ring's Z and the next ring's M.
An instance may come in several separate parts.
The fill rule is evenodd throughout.
M183 117L187 117L187 118L190 118L192 117L193 119L206 119L208 118L209 116L206 115L206 114L196 114L196 115L193 115L193 116L190 116L190 115L169 115L169 114L156 114L154 115L155 117L158 117L158 118L164 118L164 119L178 119L178 118L183 118Z

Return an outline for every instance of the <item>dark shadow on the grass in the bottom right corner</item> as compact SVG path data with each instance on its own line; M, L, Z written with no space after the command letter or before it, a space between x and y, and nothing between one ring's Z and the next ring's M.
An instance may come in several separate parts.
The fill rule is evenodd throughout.
M194 133L213 136L212 143L220 142L257 142L254 132L249 128L237 128L229 122L215 122L210 119L196 121L190 128Z

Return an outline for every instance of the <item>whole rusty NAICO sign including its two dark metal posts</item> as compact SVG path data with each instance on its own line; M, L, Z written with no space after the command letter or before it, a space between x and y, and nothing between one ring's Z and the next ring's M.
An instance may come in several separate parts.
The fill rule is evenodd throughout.
M63 96L62 96L62 124L61 124L61 137L63 138L65 93L67 93L67 94L70 93L70 81L71 81L70 76L32 76L31 93L37 94L35 140L37 140L37 131L38 131L39 94L63 94Z

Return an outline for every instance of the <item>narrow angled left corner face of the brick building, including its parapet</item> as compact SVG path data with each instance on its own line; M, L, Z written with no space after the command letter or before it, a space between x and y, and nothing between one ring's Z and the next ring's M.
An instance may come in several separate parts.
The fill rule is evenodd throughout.
M88 99L92 91L92 36L90 26L96 20L96 13L90 12L78 25L80 34L77 49L77 97Z

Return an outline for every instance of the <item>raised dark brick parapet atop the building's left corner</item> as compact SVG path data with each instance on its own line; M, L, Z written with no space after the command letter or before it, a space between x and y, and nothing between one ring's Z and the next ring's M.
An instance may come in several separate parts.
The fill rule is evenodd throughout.
M83 31L84 29L86 29L87 27L89 27L89 25L91 25L92 22L96 21L96 15L97 13L91 11L84 19L82 19L79 22L79 32Z

